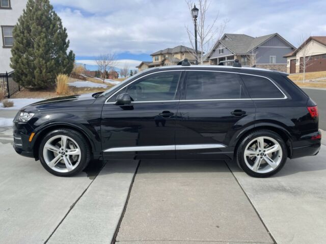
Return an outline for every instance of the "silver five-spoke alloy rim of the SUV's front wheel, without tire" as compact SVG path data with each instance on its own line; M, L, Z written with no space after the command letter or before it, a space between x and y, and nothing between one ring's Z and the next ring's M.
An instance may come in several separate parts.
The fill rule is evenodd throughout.
M78 144L69 136L53 136L43 147L45 163L57 172L65 173L74 170L82 157Z

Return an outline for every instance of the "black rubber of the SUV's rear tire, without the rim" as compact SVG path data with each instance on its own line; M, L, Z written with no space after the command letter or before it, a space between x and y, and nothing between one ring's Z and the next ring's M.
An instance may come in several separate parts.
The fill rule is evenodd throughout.
M246 149L246 146L248 145L248 143L250 143L253 139L261 137L261 136L266 136L266 137L273 138L274 140L276 140L280 144L281 149L282 149L281 162L279 163L279 165L275 169L273 169L272 171L267 172L267 173L259 173L259 172L253 171L246 164L246 161L244 161L244 150ZM239 145L236 148L236 161L237 161L239 167L244 172L246 172L247 174L249 174L249 175L251 175L253 177L263 178L263 177L269 177L271 175L276 174L277 172L279 172L282 169L282 167L284 166L286 160L287 160L287 148L286 148L285 142L282 139L282 137L279 134L275 133L274 131L257 130L257 131L251 132L250 134L245 136L240 141Z

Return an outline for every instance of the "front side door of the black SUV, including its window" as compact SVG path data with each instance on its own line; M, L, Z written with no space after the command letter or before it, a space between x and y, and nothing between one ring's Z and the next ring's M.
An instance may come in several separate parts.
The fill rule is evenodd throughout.
M175 158L175 123L182 71L145 75L114 94L102 110L104 159ZM131 106L115 105L128 93Z

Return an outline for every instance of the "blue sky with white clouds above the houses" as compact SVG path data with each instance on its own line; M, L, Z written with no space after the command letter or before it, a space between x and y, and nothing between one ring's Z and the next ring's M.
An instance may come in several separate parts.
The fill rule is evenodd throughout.
M118 66L128 63L135 69L157 50L191 47L185 26L193 28L193 23L184 0L50 2L67 28L76 60L88 69L96 69L92 60L101 53L116 53ZM218 23L228 20L225 33L279 33L298 46L302 35L326 36L325 9L325 0L212 0L206 21L209 24L219 13Z

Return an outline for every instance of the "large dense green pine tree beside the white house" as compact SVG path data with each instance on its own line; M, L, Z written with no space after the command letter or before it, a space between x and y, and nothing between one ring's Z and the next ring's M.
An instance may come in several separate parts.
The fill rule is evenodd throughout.
M67 54L67 30L49 0L28 0L13 37L10 66L20 85L51 87L58 74L71 73L75 54Z

